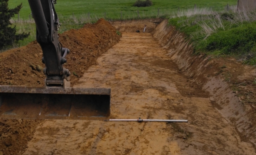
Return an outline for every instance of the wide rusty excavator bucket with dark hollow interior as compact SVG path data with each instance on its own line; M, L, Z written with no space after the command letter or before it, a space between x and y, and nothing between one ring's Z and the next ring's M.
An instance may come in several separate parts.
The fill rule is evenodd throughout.
M0 118L106 119L110 88L0 86Z

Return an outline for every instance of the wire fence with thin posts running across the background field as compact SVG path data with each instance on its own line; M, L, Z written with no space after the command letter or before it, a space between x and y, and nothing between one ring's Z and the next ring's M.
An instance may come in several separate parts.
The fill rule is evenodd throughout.
M114 20L135 20L135 19L147 19L147 18L168 18L168 17L182 17L182 16L191 16L195 14L202 14L202 15L209 15L212 14L214 7L209 8L199 8L194 6L194 8L190 9L178 9L176 11L169 10L169 9L155 9L150 11L121 11L119 14L116 12L102 12L102 13L82 13L82 14L75 14L74 12L71 15L62 15L59 14L59 19L61 22L70 23L70 24L84 24L84 23L93 23L98 21L100 18L104 18L107 21L114 21ZM226 5L223 8L222 12L225 11L236 11L237 6L229 6ZM28 17L20 18L19 14L17 17L11 19L12 23L33 23L33 17L31 14Z

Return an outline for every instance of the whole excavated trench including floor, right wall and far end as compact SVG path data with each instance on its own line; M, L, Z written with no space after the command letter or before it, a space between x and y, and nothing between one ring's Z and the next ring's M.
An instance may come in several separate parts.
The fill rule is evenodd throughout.
M74 87L111 88L111 119L189 122L46 120L33 129L24 155L255 154L253 115L216 74L216 62L192 56L167 21L111 24L122 38ZM144 25L146 33L135 33Z

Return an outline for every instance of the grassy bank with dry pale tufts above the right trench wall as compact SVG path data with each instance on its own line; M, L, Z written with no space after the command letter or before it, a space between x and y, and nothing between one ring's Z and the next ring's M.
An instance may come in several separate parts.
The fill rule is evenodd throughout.
M195 53L231 55L238 61L256 64L256 11L238 12L231 8L225 12L183 12L173 15L169 24L187 34Z

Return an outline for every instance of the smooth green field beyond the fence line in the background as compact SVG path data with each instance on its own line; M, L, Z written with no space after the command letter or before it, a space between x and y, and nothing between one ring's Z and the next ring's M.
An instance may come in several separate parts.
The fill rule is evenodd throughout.
M145 15L157 15L157 9L159 8L160 14L171 14L177 12L178 8L188 9L193 8L196 4L197 7L212 7L213 10L224 10L225 5L236 5L237 0L152 0L153 5L151 7L132 7L136 0L57 0L55 9L57 14L63 17L69 17L73 15L88 14L94 17L106 17L110 19L119 19L121 16L125 18L133 17L137 15L137 10L140 14ZM30 8L27 0L9 0L9 7L13 8L20 3L23 4L23 8L20 11L20 17L22 19L28 19L30 14ZM133 15L134 14L134 15ZM17 16L16 16L17 17Z

